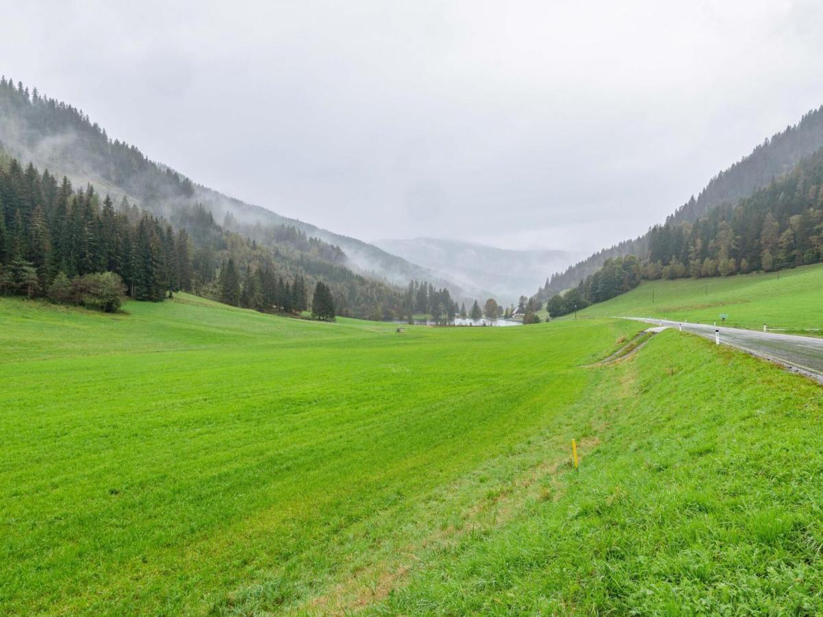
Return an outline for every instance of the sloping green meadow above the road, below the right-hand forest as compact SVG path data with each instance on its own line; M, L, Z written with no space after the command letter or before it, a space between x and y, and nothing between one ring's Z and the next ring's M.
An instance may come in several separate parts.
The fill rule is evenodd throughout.
M691 322L720 321L760 330L823 334L823 264L768 274L708 279L644 281L578 317L656 317Z

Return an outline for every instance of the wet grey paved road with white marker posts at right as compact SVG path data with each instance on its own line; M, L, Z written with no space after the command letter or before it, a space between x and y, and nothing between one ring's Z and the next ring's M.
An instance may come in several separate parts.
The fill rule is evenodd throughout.
M777 360L823 381L823 338L756 332L734 327L714 327L700 323L670 322L666 319L630 319L651 323L654 326L682 326L686 332L693 332L713 341L714 331L719 330L721 345L731 345L770 360Z

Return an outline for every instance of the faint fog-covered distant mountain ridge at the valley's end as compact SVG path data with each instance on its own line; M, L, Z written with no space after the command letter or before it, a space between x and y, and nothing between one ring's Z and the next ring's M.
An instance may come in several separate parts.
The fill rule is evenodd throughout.
M559 250L510 250L459 240L416 238L377 240L380 248L455 281L475 297L514 304L533 289L546 270L567 266L574 254Z

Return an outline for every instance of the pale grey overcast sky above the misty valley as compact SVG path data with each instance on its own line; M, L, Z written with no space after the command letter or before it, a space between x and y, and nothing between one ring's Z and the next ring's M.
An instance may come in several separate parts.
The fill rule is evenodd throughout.
M821 27L780 0L2 0L0 72L329 230L589 250L823 104Z

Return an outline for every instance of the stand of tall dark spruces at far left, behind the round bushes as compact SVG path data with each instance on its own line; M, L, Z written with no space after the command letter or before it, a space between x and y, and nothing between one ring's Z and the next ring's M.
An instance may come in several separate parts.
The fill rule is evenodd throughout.
M91 184L75 189L34 165L22 169L16 159L0 165L0 290L6 293L44 295L58 278L111 272L131 297L160 300L190 288L189 251L185 230L175 232L126 200L115 209Z

